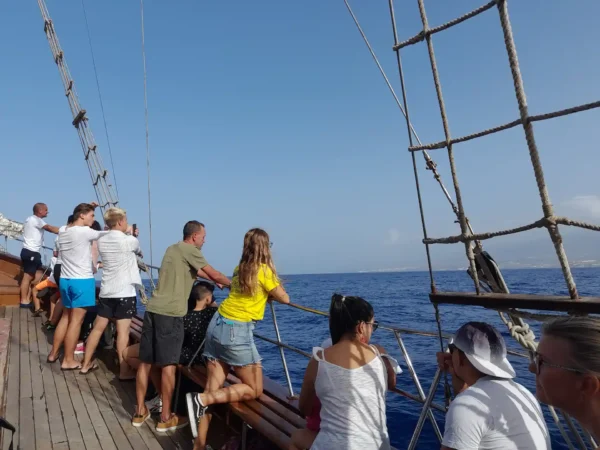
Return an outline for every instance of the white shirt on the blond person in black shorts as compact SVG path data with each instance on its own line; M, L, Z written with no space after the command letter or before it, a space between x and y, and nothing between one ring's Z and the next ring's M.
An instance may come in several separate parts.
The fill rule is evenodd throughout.
M142 285L136 254L141 254L140 243L122 231L111 230L98 239L102 259L100 297L126 298L136 296L136 287Z

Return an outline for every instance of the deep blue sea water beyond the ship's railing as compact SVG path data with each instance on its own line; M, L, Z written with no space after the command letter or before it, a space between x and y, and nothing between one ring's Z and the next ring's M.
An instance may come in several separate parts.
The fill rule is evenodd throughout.
M600 269L574 269L573 273L579 286L580 295L598 294ZM513 293L567 295L564 279L559 269L505 270L503 274ZM437 272L435 281L438 289L442 291L473 290L472 281L464 271ZM327 311L331 295L334 292L358 295L371 302L375 309L375 318L380 324L437 332L433 306L428 297L429 274L426 272L290 275L284 277L284 282L292 302L299 305ZM216 297L218 301L222 300L225 292L217 292ZM320 345L323 339L328 337L326 317L279 304L275 305L275 310L281 339L286 344L310 353L313 346ZM453 333L461 324L470 320L485 321L493 324L502 332L509 348L521 350L494 311L472 306L442 305L440 312L444 332ZM536 336L539 336L539 324L535 322L530 322L530 324L536 332ZM264 320L257 324L255 332L272 339L276 338L269 308L265 312ZM436 371L435 352L439 350L439 340L436 337L410 334L403 334L402 337L423 389L427 393ZM263 357L266 375L286 386L278 349L260 339L257 339L256 342ZM372 342L384 346L400 362L404 373L398 377L398 388L417 395L415 384L407 370L406 362L393 333L379 329L374 333ZM308 360L290 350L285 350L285 358L294 392L297 393L300 390ZM535 392L535 378L527 369L527 359L516 356L509 357L509 359L517 371L517 381ZM388 430L392 445L398 449L407 448L417 424L421 406L395 393L389 393L387 400ZM443 384L437 390L435 401L440 405L444 404ZM545 407L544 409L552 434L553 448L568 448L547 409ZM443 414L436 412L435 417L443 432ZM418 448L440 448L429 421L425 423Z

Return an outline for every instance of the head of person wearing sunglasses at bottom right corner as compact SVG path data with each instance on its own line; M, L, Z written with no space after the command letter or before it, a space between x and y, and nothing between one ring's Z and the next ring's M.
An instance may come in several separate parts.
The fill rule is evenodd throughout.
M538 400L573 416L600 441L600 321L561 317L545 323L529 370Z

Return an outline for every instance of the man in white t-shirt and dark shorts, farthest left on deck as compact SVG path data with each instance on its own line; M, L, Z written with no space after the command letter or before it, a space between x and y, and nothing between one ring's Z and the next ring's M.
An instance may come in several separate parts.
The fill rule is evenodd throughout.
M33 297L34 314L40 313L40 299L37 291L32 285L33 280L42 278L42 254L44 244L44 230L58 234L58 228L48 225L44 218L48 216L48 206L45 203L33 205L33 215L25 220L23 226L23 249L21 250L21 261L23 264L23 278L21 280L21 308L31 307L31 296ZM37 275L37 276L36 276Z

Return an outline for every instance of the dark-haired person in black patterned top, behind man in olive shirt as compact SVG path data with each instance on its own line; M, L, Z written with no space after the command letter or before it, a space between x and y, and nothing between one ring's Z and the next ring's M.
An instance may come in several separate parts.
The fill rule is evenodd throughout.
M192 358L204 343L206 330L217 312L213 292L215 286L208 281L197 281L192 288L188 299L188 312L183 318L183 345L181 347L180 364L188 365L190 363L201 363L201 353L198 352L196 358ZM140 365L139 358L140 344L133 344L123 351L123 368L119 375L121 381L135 381L135 374ZM157 390L160 390L160 372L151 372L152 383ZM160 392L156 398L146 403L150 412L156 412L160 409Z

